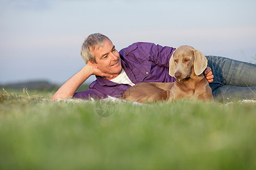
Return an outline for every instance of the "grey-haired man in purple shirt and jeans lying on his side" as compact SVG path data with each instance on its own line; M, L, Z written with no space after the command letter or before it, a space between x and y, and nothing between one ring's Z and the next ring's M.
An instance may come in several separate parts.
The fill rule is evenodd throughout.
M59 88L52 100L68 97L101 99L108 95L120 97L137 83L174 82L175 78L168 74L174 50L168 46L137 42L118 53L108 37L100 33L89 35L81 49L86 65ZM233 97L255 99L255 65L223 57L207 58L209 67L204 74L216 100L226 101ZM210 68L213 69L214 80ZM75 93L90 75L96 75L97 80L90 84L89 90Z

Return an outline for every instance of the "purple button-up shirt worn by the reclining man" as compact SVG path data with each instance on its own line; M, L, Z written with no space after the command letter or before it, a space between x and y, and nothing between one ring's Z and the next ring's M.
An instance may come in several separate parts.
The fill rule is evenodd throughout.
M141 82L175 82L169 75L169 60L175 48L148 42L135 42L120 50L122 67L134 84ZM101 76L92 82L89 90L76 92L73 97L102 99L109 96L120 97L129 84L118 84Z

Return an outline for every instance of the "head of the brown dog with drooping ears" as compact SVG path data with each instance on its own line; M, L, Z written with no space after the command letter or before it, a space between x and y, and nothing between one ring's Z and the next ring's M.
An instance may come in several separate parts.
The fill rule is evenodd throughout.
M207 67L207 58L192 46L177 48L170 58L169 74L176 79L189 78L194 72L200 75Z

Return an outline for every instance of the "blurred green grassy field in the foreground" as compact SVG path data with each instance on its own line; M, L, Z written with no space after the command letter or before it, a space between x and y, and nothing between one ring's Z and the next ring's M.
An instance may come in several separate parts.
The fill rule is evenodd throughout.
M100 117L97 102L51 96L0 92L0 169L256 169L255 104L116 103Z

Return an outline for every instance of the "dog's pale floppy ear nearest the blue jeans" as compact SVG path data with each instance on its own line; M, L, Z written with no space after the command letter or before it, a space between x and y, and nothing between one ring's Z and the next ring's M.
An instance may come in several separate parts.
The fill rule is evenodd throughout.
M199 50L193 50L195 59L194 59L194 70L196 75L200 75L204 72L207 67L207 58Z

